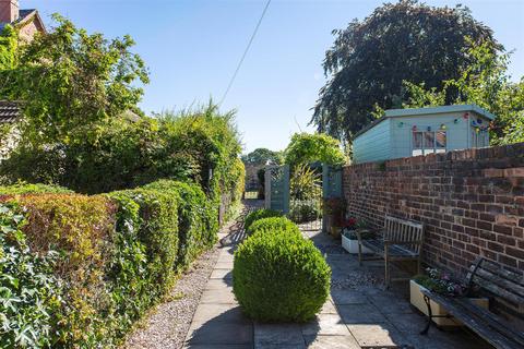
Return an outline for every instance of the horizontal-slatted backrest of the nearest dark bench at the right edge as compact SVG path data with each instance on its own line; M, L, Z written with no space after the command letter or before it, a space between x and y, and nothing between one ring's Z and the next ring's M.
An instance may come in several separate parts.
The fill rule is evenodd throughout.
M519 313L524 312L524 272L511 270L500 264L477 257L466 275L467 286L478 285Z

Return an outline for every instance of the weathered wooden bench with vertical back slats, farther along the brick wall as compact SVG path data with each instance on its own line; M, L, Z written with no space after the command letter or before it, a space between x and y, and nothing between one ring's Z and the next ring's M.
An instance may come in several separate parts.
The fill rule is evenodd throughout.
M397 261L417 262L417 273L420 273L421 248L424 243L424 224L385 216L384 230L374 239L362 239L362 231L357 231L358 262L384 260L384 284L389 288L391 281L408 278L391 278L390 263ZM378 257L362 256L362 246L368 248Z

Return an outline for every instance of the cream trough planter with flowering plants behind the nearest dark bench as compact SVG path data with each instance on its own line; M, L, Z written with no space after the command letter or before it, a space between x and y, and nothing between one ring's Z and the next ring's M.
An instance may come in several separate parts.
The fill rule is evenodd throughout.
M461 282L454 280L450 274L443 273L436 268L427 268L427 275L417 275L409 280L409 301L420 312L428 315L428 306L424 301L422 290L440 293L445 297L469 297L471 301L478 306L488 309L489 300L487 298L476 297L475 292L466 294L467 288ZM430 300L431 313L439 317L433 317L432 321L442 327L462 326L462 323L453 317L445 317L448 312L439 303ZM441 317L442 316L442 317Z

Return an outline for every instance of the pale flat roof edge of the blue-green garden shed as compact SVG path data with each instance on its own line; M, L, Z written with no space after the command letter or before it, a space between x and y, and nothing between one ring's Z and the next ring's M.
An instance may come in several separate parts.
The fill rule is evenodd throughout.
M450 113L450 112L469 112L474 111L481 117L485 117L488 120L495 120L496 116L486 109L480 108L477 105L454 105L454 106L440 106L440 107L425 107L425 108L406 108L406 109L388 109L384 112L384 116L373 120L371 123L366 125L364 129L355 133L354 139L358 137L366 131L372 129L374 125L390 118L402 118L402 117L419 117L419 116L434 116L439 113Z

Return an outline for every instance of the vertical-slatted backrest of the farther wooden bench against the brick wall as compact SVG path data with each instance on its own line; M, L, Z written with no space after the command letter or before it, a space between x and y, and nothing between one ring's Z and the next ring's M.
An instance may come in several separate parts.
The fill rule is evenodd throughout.
M384 221L384 239L391 241L412 241L405 245L410 251L420 253L424 242L424 224L413 220L406 220L385 216Z

